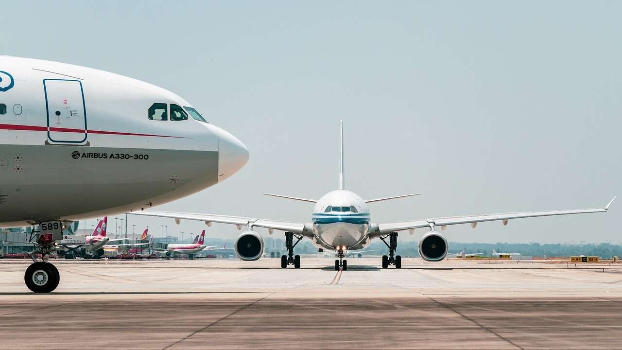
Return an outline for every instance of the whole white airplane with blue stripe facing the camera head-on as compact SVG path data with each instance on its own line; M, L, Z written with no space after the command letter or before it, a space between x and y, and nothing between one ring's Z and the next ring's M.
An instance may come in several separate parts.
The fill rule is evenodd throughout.
M241 229L242 226L246 226L248 230L238 236L233 247L236 255L241 260L257 260L263 255L263 240L261 235L254 230L257 227L268 229L270 234L272 234L273 230L285 231L285 248L287 248L288 253L281 257L282 268L292 264L295 268L300 267L300 256L294 256L294 247L301 239L307 238L312 241L315 247L319 248L320 252L323 252L323 249L328 249L334 250L337 253L338 260L335 260L335 270L339 270L340 268L342 270L347 270L347 262L343 260L343 257L351 250L360 250L368 247L371 240L375 238L383 240L384 244L389 248L389 255L383 255L383 268L387 268L389 264L395 265L396 268L401 268L402 258L400 255L395 255L397 233L400 231L407 230L413 233L414 229L428 227L430 232L424 234L419 240L419 254L424 260L437 262L443 260L447 256L448 244L445 237L443 237L440 232L437 232L436 227L444 229L447 225L471 224L471 227L475 228L478 222L492 220L503 220L503 224L506 225L509 219L519 219L523 217L606 212L611 202L613 202L612 199L605 207L595 209L510 212L502 214L435 217L401 222L373 222L369 214L368 203L415 196L416 194L364 200L354 192L346 191L343 166L343 123L340 123L340 143L338 190L328 192L317 201L315 199L267 194L268 196L315 203L310 222L290 222L229 215L150 210L136 212L134 214L172 217L175 218L177 224L179 224L182 219L189 219L204 221L207 225L211 225L213 222L233 224L237 225L238 229ZM295 243L294 237L297 239Z

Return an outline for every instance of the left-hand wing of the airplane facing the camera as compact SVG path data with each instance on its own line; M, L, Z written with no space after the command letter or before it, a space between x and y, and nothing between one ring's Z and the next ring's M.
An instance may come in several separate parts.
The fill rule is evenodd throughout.
M256 219L252 217L230 216L230 215L211 215L211 214L196 214L196 213L184 213L184 212L157 212L157 211L151 211L151 210L131 212L128 214L156 216L156 217L172 217L173 219L175 219L175 222L179 222L179 220L183 219L183 220L205 221L206 224L211 224L212 222L216 222L218 224L231 224L231 225L238 225L238 226L251 225L253 227L264 227L265 229L289 231L289 232L294 232L295 234L302 234L307 237L312 237L311 234L305 233L304 222Z

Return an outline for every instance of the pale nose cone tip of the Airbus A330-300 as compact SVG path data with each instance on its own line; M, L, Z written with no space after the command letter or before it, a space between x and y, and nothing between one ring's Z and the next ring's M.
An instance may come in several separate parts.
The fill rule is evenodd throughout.
M218 182L238 172L248 162L248 148L225 130L218 131Z

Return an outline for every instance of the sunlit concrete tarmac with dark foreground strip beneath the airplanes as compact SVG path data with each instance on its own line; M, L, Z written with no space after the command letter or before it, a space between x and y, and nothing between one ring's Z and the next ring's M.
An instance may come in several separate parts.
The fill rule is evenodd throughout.
M622 264L303 257L0 260L0 349L607 349L622 339Z

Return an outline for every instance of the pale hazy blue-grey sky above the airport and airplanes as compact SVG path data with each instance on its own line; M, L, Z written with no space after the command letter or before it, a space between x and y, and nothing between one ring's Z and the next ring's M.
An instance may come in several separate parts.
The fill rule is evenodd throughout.
M157 209L309 222L312 204L261 192L337 189L341 119L347 189L422 192L370 204L374 222L602 207L622 194L619 1L11 1L2 13L0 54L153 83L248 146L238 174ZM607 214L443 233L622 244L621 219L622 199Z

